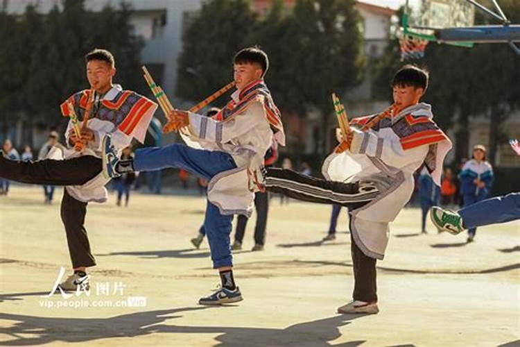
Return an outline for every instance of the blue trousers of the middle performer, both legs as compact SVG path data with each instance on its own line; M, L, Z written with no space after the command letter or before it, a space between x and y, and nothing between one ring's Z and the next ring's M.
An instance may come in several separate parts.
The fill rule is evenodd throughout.
M135 151L135 171L152 171L177 167L200 178L211 180L216 174L236 168L231 155L221 151L192 149L183 144L148 147ZM229 235L233 216L224 216L216 205L207 201L204 228L207 233L214 269L233 266Z

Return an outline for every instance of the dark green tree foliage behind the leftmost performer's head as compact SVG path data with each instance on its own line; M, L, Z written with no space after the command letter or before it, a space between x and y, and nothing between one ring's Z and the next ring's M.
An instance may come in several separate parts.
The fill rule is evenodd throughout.
M42 15L27 6L16 18L0 10L0 40L9 50L0 52L0 117L5 134L9 123L24 119L26 139L32 128L64 125L59 105L74 92L89 87L83 57L98 47L116 58L116 83L146 90L139 73L142 41L132 34L130 7L109 6L101 12L85 10L84 0L64 0ZM6 117L9 119L6 119Z

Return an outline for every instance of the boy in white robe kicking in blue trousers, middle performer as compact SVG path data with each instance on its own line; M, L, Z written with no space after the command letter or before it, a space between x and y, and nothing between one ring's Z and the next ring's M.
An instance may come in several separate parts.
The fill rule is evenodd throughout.
M105 137L103 146L103 170L109 177L177 167L209 180L204 228L221 287L200 298L200 305L243 300L232 272L229 234L233 214L250 216L263 156L273 137L285 144L279 110L263 82L268 69L267 54L256 47L242 49L236 53L233 67L236 91L217 115L209 118L182 110L169 115L175 128L189 129L190 137L184 138L187 145L138 149L133 160L119 160L110 137Z

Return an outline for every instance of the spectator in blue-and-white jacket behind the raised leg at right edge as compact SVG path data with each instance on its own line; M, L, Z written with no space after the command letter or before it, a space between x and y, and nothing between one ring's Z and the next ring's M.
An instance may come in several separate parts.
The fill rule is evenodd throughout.
M478 203L489 196L493 185L493 168L486 161L485 146L482 144L474 146L473 159L464 165L458 177L465 206ZM470 228L467 242L473 242L475 234L476 228Z

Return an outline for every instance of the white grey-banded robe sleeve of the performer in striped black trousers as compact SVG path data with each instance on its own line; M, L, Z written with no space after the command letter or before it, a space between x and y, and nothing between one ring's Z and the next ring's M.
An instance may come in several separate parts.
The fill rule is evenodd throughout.
M428 145L417 146L405 151L399 137L390 129L388 131L383 129L379 132L368 130L365 133L356 128L351 128L351 130L354 131L354 139L350 146L351 153L378 158L391 167L401 169L417 160L424 160L428 153Z

